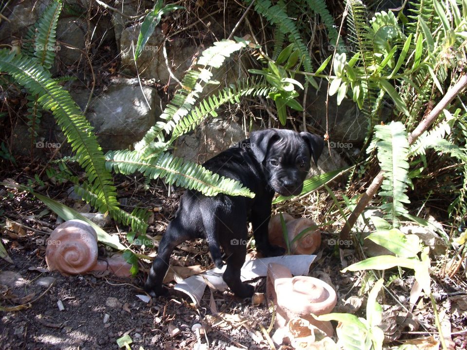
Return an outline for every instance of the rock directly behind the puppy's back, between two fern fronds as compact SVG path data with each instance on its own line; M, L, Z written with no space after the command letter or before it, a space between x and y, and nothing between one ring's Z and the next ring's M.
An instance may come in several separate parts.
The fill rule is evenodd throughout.
M210 120L196 133L180 137L174 155L201 164L246 138L245 132L234 121Z

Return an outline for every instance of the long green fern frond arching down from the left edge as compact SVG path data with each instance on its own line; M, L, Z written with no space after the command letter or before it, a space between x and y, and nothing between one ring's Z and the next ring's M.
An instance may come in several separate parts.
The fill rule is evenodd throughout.
M31 94L38 95L39 105L52 111L96 194L102 197L108 211L118 207L112 177L96 136L91 132L92 126L69 92L37 65L35 59L14 55L5 49L0 50L0 71L10 74Z

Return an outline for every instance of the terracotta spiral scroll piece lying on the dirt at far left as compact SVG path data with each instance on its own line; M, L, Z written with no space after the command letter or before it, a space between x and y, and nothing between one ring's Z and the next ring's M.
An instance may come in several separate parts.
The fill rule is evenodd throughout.
M121 255L97 259L97 233L82 220L69 220L57 226L47 240L45 261L49 270L69 275L91 271L109 271L130 277L131 265Z

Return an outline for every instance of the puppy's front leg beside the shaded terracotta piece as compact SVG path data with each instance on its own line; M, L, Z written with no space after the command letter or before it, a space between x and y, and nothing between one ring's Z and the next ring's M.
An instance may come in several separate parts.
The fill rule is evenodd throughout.
M271 218L271 204L269 206L258 206L251 211L251 226L256 243L256 250L265 257L284 255L286 250L277 245L271 245L268 237L268 224Z

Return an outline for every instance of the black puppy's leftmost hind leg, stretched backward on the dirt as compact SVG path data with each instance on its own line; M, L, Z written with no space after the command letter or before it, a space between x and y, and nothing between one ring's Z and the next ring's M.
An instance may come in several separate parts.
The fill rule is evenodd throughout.
M188 239L190 239L190 236L180 225L180 218L175 218L169 226L167 226L162 236L157 250L157 256L154 258L149 276L144 284L144 290L151 296L155 297L167 294L167 289L162 286L162 280L169 268L170 255L177 245Z

